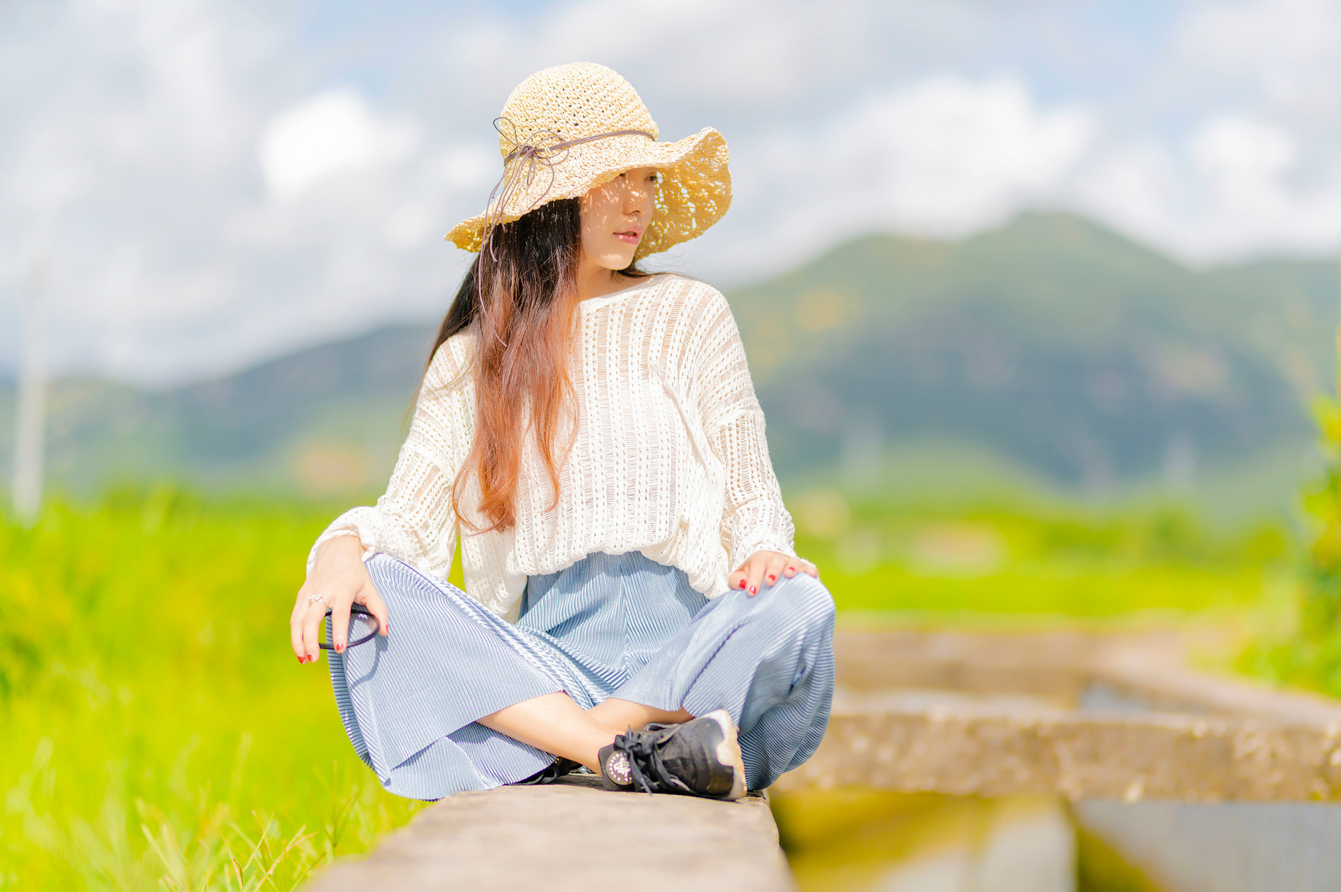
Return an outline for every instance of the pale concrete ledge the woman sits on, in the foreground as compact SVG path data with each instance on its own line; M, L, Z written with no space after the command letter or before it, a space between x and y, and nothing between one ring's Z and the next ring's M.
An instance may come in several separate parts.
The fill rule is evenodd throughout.
M590 775L448 797L365 860L337 864L306 888L629 892L653 879L704 892L793 888L762 797L610 793Z

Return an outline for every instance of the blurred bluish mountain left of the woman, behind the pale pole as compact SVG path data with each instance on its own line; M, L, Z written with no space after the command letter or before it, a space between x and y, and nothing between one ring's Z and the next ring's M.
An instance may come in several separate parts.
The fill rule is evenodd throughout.
M400 325L164 392L102 379L51 388L58 489L174 479L208 490L370 492L396 459L433 328ZM9 461L12 388L0 392Z

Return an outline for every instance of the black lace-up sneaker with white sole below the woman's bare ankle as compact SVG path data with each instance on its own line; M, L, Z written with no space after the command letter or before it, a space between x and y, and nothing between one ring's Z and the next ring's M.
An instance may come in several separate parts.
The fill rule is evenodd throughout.
M601 747L601 782L607 790L680 793L715 800L746 794L746 766L736 726L725 710L684 725L629 729Z

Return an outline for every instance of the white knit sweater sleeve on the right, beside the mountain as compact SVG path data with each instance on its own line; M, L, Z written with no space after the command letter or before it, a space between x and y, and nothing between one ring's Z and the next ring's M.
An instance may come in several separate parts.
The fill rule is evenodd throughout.
M721 544L735 571L755 552L794 556L794 529L768 459L763 410L731 307L712 291L701 309L703 333L692 347L696 402L708 446L725 473Z

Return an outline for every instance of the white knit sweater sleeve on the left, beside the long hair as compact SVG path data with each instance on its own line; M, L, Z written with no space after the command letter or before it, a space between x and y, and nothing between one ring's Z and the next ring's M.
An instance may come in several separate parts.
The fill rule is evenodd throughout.
M457 520L452 482L473 418L461 418L459 370L463 358L451 342L429 366L414 406L414 421L401 446L386 493L375 505L345 512L326 528L307 556L312 572L316 549L338 536L357 536L365 559L385 553L447 579L456 550Z

